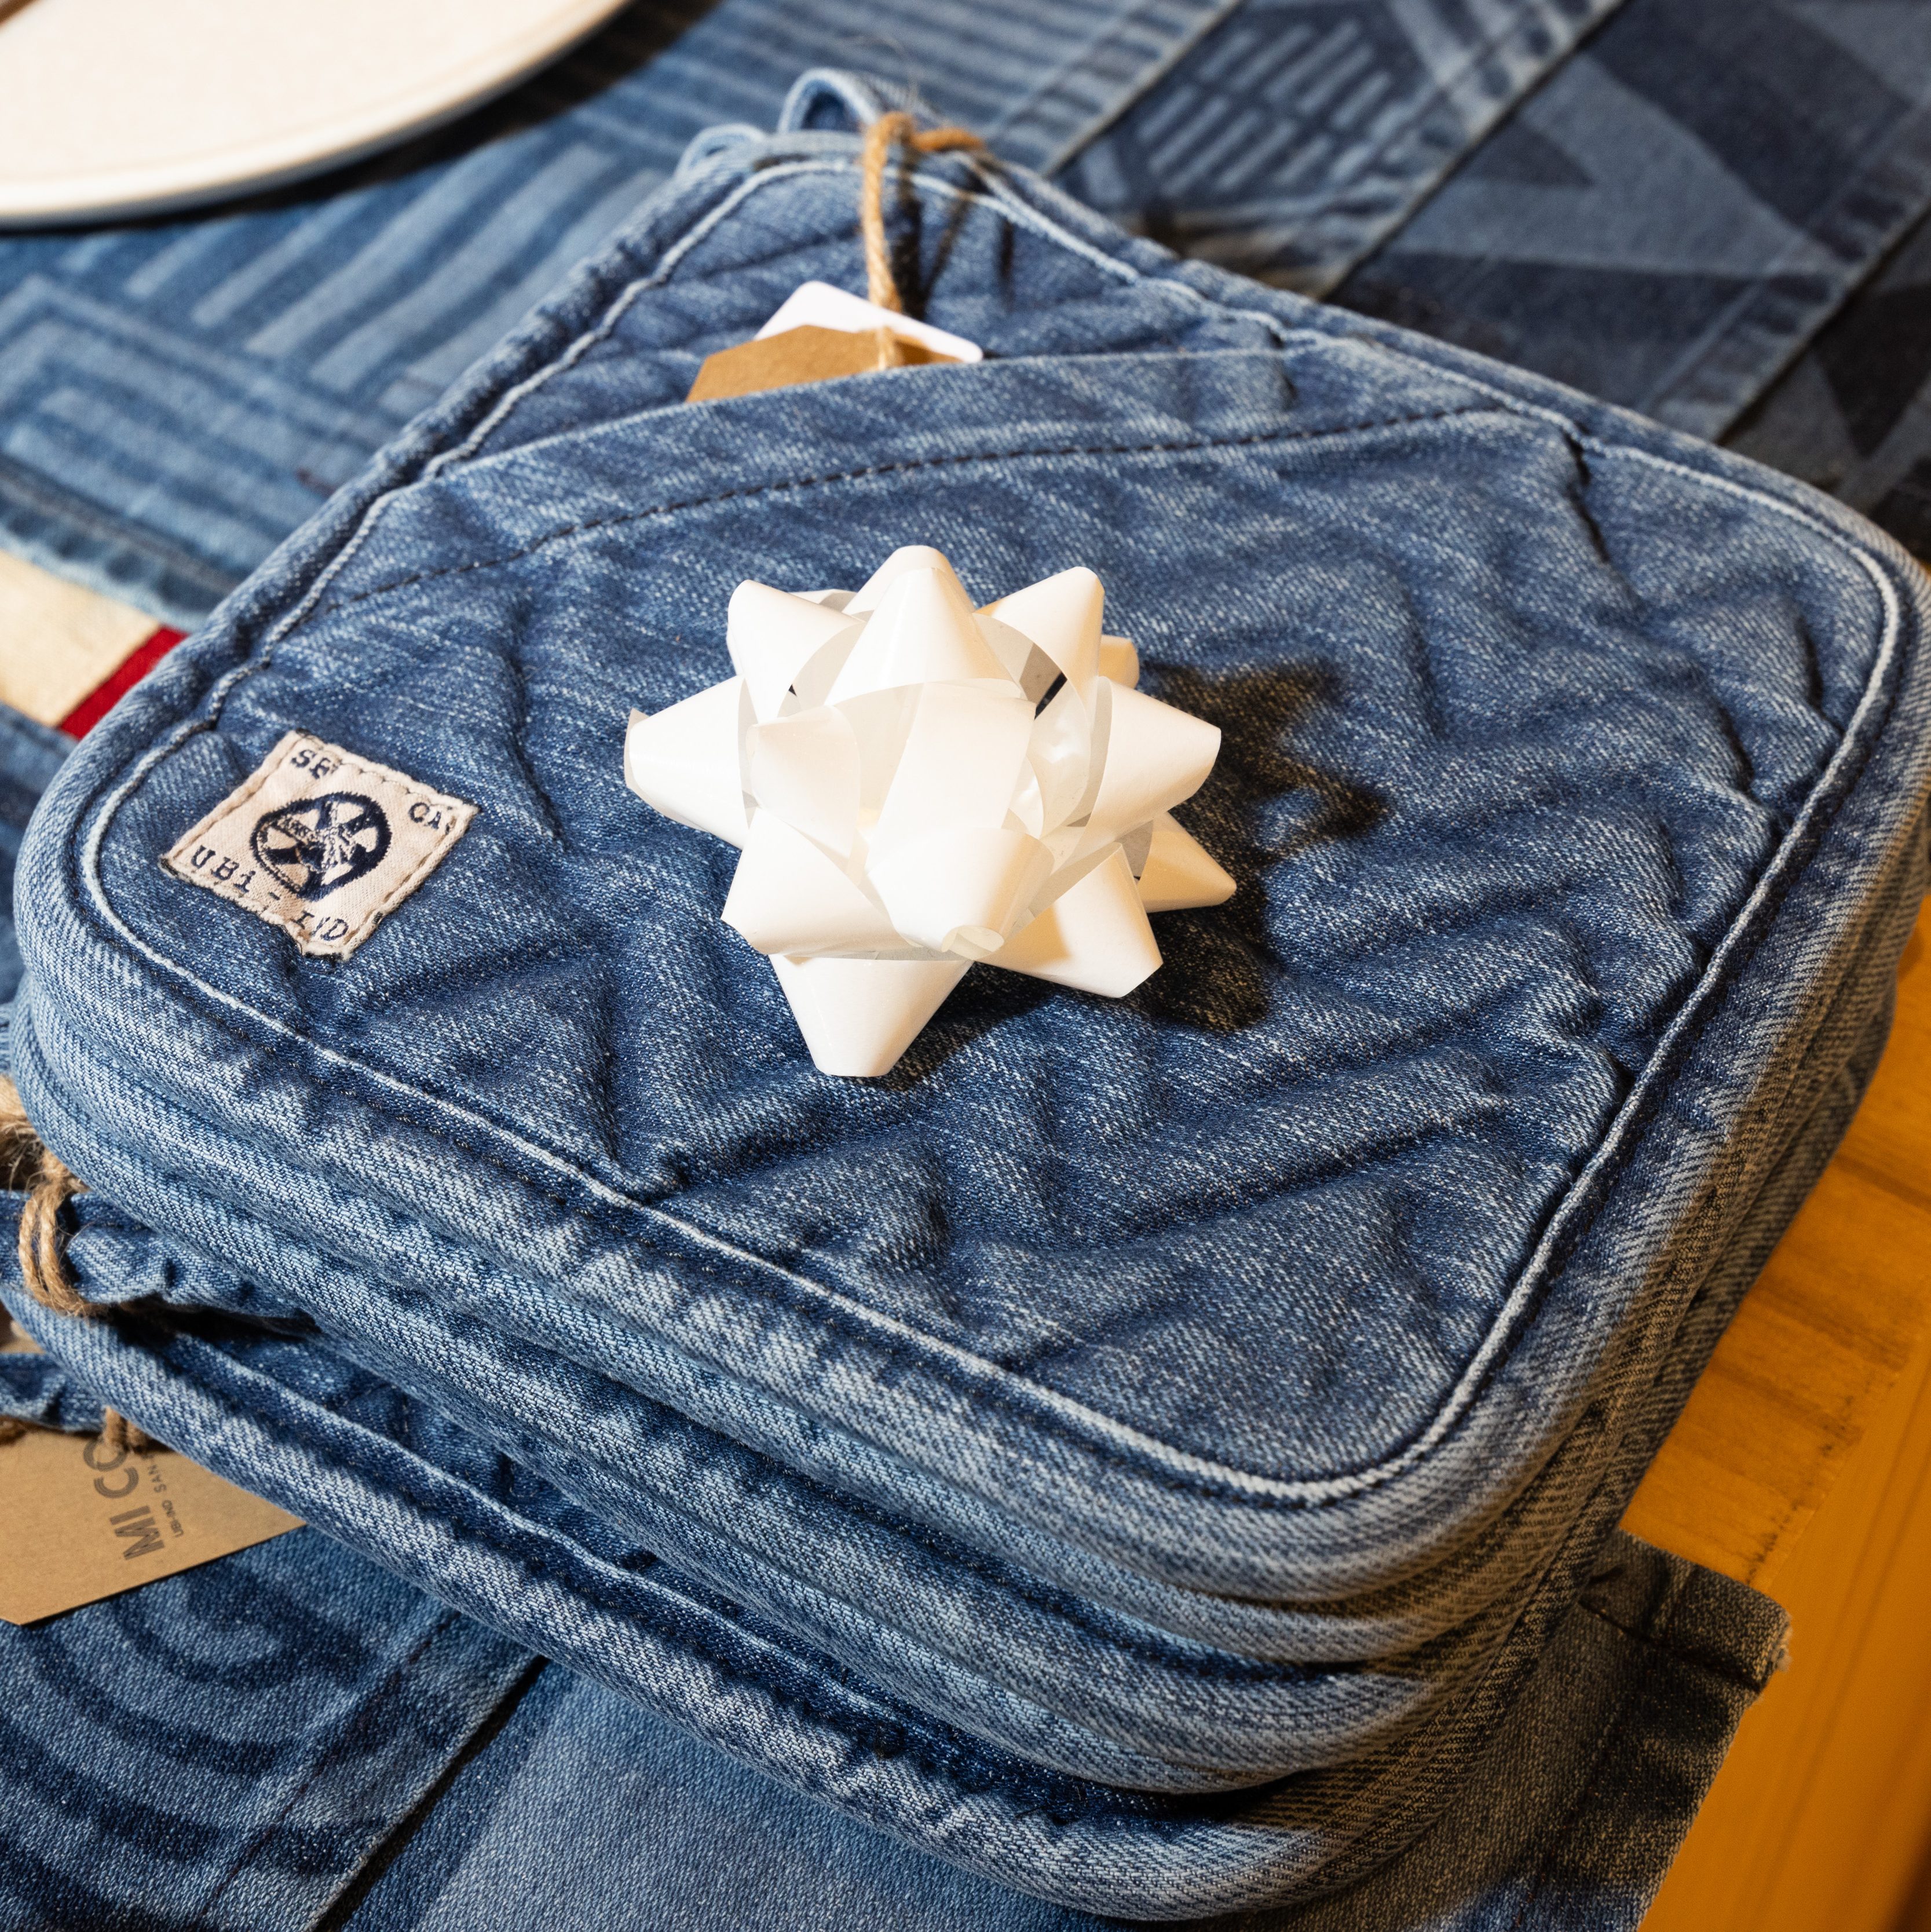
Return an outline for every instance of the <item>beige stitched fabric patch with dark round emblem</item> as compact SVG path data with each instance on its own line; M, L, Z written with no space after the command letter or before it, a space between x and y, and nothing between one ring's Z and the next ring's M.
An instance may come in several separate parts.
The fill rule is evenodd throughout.
M303 952L348 958L448 856L477 808L292 730L162 866Z

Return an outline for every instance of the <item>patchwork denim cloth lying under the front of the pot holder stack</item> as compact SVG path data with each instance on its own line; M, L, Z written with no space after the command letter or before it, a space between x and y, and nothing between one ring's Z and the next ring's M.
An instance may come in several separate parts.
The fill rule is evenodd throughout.
M0 744L14 804L37 796L62 750L31 728ZM1827 1146L1834 1121L1807 1138ZM85 1258L104 1225L79 1236ZM0 1408L100 1422L46 1354L0 1352ZM1597 1932L1634 1926L1780 1631L1753 1592L1612 1538L1433 1828L1342 1897L1244 1924L1313 1932L1338 1917L1350 1932L1413 1932L1454 1901L1466 1932L1535 1932L1581 1897ZM749 1899L774 1932L1021 1915L1054 1932L1095 1926L747 1777L585 1679L550 1669L525 1702L539 1662L462 1621L425 1629L313 1536L0 1636L14 1712L0 1826L23 1932L427 1932L525 1917L709 1928L738 1922Z

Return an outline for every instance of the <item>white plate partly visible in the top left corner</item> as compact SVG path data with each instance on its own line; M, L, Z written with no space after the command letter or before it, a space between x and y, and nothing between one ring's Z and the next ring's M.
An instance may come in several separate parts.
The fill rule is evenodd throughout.
M624 0L0 0L0 224L151 214L419 133Z

